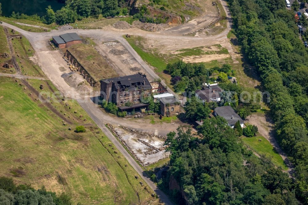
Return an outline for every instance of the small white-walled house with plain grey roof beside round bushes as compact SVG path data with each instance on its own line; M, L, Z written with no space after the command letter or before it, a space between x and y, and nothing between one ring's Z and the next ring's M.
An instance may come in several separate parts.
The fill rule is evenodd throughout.
M231 128L234 127L237 121L240 121L241 127L244 127L244 121L235 113L231 106L216 107L214 110L214 115L225 118Z

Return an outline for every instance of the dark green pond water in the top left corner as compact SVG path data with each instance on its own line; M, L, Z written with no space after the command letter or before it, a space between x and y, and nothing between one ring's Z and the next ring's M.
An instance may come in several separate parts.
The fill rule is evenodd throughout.
M64 0L0 0L2 4L2 16L9 17L13 11L19 14L43 16L46 14L47 6L56 11L64 6Z

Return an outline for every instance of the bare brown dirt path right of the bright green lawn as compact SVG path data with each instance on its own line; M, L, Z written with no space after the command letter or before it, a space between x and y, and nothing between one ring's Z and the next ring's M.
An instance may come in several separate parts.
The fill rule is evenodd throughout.
M293 164L287 158L286 154L280 148L278 142L275 139L275 130L274 124L272 123L272 119L269 117L265 117L265 115L260 114L252 114L247 117L249 119L249 123L256 125L258 127L258 132L265 137L275 148L278 154L282 157L288 167L288 173L293 175Z

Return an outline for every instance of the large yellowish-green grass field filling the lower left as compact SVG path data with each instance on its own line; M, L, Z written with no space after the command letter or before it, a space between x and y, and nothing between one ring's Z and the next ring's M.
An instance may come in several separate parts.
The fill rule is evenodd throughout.
M47 93L57 90L50 81L27 82L34 90L20 80L0 78L1 176L35 188L44 185L50 191L65 191L83 204L136 204L153 199L151 191L140 186L144 181L134 178L136 171L77 102L36 101L40 84ZM75 133L82 124L87 131Z

